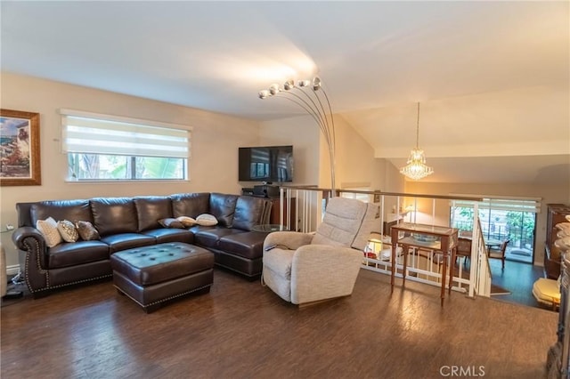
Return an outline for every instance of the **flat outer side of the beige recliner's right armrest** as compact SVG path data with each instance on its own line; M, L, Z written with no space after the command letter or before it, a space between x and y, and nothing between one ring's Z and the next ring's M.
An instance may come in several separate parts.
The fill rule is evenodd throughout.
M362 251L349 247L299 247L291 266L291 302L302 304L352 294L362 256Z

